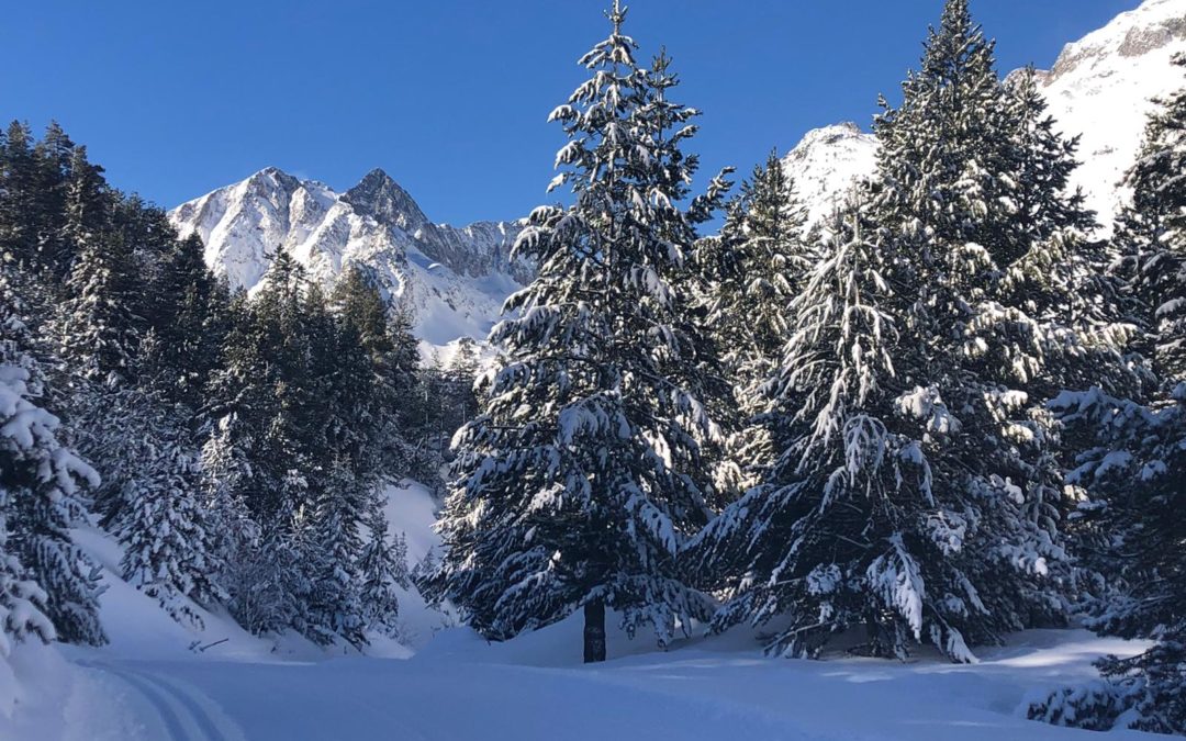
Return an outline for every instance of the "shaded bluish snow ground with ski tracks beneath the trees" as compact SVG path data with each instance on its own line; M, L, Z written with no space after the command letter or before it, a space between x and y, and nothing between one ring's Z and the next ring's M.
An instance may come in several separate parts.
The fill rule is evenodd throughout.
M389 517L408 529L409 560L423 557L434 542L431 496L393 490ZM108 538L79 536L117 563ZM254 638L221 615L193 632L111 574L107 582L110 645L19 646L14 703L0 677L0 740L1084 739L1090 732L1025 720L1027 698L1092 677L1101 654L1141 649L1086 631L1031 631L981 650L975 665L806 662L765 658L746 630L667 652L611 631L610 660L588 667L579 615L487 644L408 594L407 645L376 644L361 657ZM1149 737L1108 737L1137 736Z

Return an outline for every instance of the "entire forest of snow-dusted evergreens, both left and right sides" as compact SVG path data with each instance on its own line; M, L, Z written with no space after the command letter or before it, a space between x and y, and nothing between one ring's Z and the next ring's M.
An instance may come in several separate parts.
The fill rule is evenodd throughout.
M530 213L486 370L425 363L358 267L278 250L231 290L59 127L8 127L0 653L104 641L90 520L177 620L326 646L396 632L413 582L497 640L582 611L588 662L607 611L952 662L1086 620L1153 647L1031 715L1186 733L1186 59L1109 231L1033 72L949 0L875 177L809 224L776 155L695 190L697 111L625 17L550 115L567 205ZM402 478L447 494L415 574Z

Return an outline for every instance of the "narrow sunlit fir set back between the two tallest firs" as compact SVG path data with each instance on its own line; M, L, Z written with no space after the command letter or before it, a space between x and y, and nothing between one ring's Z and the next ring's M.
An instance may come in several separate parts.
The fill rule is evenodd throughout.
M793 187L771 152L729 202L721 232L697 245L710 282L704 325L720 347L732 389L718 415L733 428L718 474L727 496L757 484L758 472L773 458L765 426L753 416L764 405L761 387L790 336L786 306L818 257L804 234L806 215Z

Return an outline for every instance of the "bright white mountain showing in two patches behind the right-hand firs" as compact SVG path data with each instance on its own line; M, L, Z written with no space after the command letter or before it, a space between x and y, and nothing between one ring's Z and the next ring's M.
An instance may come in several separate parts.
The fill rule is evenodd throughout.
M1050 114L1064 134L1080 136L1083 165L1071 184L1105 226L1127 198L1120 181L1136 159L1152 98L1181 85L1169 64L1178 52L1186 52L1186 0L1146 0L1067 44L1053 69L1039 72ZM808 132L783 162L815 222L873 174L875 158L873 135L841 123Z

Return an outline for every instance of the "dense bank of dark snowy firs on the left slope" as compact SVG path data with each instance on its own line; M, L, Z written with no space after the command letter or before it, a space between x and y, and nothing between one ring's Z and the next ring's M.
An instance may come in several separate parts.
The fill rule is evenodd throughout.
M421 368L364 269L326 292L280 253L247 296L203 249L57 124L0 134L6 650L106 640L101 570L70 536L95 526L178 620L224 608L320 644L397 630L409 576L381 492L436 475L472 354Z

